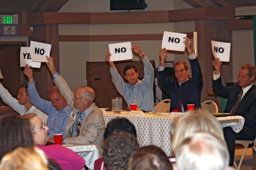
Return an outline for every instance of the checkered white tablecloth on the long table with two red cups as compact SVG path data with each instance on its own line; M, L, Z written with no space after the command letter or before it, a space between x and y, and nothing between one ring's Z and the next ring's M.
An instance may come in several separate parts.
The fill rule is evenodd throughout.
M173 117L169 115L129 115L128 112L121 114L104 113L104 120L107 124L115 117L126 117L136 127L137 139L140 146L156 145L165 151L167 156L171 155L171 138L170 129ZM217 117L221 121L221 127L231 126L235 132L239 132L243 128L245 119L241 116ZM234 121L234 122L232 122Z

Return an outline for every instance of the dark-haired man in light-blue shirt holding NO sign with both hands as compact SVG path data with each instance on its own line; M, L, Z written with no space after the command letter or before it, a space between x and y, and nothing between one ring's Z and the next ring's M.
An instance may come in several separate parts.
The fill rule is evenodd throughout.
M154 111L154 97L153 97L153 83L154 83L154 68L150 64L150 61L141 52L139 45L132 45L132 52L141 58L144 66L144 77L140 81L138 79L139 72L133 65L127 65L124 68L124 78L128 83L124 83L124 80L117 72L114 62L111 62L111 53L106 54L106 61L109 63L109 72L112 77L112 82L115 85L117 91L124 97L124 100L128 104L137 103L137 107L145 111Z

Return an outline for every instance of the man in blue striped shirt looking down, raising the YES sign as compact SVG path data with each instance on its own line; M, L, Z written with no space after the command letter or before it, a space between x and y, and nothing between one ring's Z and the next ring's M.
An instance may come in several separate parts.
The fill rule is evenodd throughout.
M63 134L63 138L65 138L67 120L72 112L70 107L67 105L65 98L61 96L58 88L53 86L49 90L50 101L43 100L37 93L35 80L33 79L33 70L31 69L31 66L28 66L28 64L26 64L24 68L24 74L28 78L28 95L31 104L48 115L46 126L49 127L49 141L54 138L54 134Z

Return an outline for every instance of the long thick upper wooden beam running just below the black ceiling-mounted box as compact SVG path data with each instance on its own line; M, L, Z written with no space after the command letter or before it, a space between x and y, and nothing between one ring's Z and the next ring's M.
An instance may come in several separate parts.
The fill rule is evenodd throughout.
M38 24L120 24L167 23L196 19L234 18L234 8L201 7L172 11L139 11L109 13L35 13L28 14L28 25Z

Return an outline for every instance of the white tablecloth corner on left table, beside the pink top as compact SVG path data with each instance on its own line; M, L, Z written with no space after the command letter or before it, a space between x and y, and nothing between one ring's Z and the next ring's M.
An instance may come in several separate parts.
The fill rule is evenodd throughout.
M83 159L85 159L85 165L94 169L94 161L99 158L99 151L94 144L72 144L72 145L63 145L72 151L76 152Z

